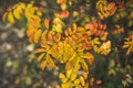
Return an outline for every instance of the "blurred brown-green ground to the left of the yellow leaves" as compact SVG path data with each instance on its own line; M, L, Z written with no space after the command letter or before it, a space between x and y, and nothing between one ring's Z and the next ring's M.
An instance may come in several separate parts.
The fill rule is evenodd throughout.
M24 20L14 25L1 21L7 8L19 1L30 2L0 0L0 88L53 88L59 69L39 68L35 45L28 42Z

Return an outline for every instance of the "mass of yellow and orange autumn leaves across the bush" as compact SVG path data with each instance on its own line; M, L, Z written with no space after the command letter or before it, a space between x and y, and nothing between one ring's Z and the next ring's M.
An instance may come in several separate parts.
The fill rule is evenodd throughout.
M133 9L133 4L122 0L86 0L88 6L78 6L78 0L55 2L59 8L50 16L45 16L43 7L31 1L8 8L2 20L16 24L22 16L25 18L27 36L30 43L38 45L37 61L42 70L45 66L52 69L58 64L64 66L65 70L59 74L61 84L55 88L101 88L102 80L90 77L90 67L99 59L95 55L110 56L119 48L125 52L124 56L133 54L133 31L129 30L133 25L130 20L133 12L127 10L124 14L126 8ZM91 7L95 14L91 14L92 10L88 12ZM120 22L125 16L129 24L122 25ZM112 36L119 37L122 44L114 44Z

